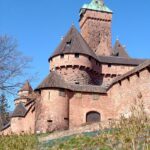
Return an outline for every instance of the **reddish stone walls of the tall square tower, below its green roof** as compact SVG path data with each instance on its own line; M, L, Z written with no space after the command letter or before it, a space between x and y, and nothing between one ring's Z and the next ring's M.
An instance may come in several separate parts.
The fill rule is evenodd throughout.
M91 10L80 20L81 34L97 55L111 55L111 20L112 14Z

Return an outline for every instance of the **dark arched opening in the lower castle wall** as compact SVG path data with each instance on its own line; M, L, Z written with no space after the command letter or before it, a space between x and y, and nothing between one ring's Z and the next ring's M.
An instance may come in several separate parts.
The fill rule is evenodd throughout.
M86 114L86 122L87 123L100 122L100 121L101 121L100 113L98 113L96 111L91 111Z

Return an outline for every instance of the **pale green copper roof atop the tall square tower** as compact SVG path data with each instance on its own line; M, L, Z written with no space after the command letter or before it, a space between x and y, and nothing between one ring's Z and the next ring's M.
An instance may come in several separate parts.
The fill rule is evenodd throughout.
M80 14L82 14L85 9L112 13L112 10L104 4L103 0L92 0L89 4L84 4L81 8Z

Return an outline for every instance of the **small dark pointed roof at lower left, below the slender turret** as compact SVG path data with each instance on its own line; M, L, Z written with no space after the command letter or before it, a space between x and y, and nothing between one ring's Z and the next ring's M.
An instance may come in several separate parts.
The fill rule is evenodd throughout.
M27 109L25 108L25 106L22 103L19 103L16 106L11 117L24 117L26 113L27 113Z

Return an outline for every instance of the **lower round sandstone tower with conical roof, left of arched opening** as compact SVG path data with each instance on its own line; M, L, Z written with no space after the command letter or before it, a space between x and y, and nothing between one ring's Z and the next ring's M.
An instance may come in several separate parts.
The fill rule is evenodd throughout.
M36 101L36 132L69 128L69 95L65 88L63 79L55 71L36 88L41 95Z

